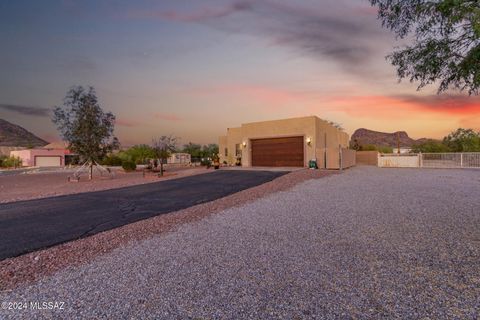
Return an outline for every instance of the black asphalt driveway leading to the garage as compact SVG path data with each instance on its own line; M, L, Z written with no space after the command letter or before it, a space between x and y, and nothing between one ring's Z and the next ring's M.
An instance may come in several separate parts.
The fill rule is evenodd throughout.
M286 173L216 171L120 189L0 204L0 260L219 199Z

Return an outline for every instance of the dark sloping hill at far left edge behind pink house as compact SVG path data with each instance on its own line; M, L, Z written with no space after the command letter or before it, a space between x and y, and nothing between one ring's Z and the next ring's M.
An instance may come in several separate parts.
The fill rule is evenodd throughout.
M0 146L2 147L43 147L48 142L24 128L0 119Z

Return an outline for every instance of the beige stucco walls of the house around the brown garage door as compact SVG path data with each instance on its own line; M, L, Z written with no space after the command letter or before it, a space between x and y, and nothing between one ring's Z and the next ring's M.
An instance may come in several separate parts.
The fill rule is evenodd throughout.
M347 148L349 141L347 133L316 116L246 123L238 128L227 129L227 135L219 137L220 161L234 164L235 145L240 144L242 147L242 166L248 167L251 165L252 139L291 136L302 136L305 139L304 165L307 166L311 159L317 159L319 168L325 167L325 147L334 148L338 156L338 148ZM307 138L311 140L309 144L306 142ZM244 143L245 147L243 147ZM225 148L228 149L227 156L225 156Z

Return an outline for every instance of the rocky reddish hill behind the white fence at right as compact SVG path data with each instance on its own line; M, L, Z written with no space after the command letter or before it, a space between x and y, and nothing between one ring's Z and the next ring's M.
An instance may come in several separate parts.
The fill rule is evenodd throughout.
M397 147L397 136L400 140L400 147L411 147L415 144L423 143L428 139L412 139L405 131L397 131L393 133L379 132L368 129L357 129L352 137L352 143L357 140L359 145L373 144L381 147Z

